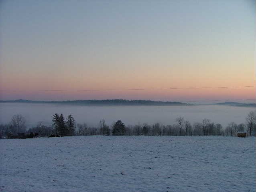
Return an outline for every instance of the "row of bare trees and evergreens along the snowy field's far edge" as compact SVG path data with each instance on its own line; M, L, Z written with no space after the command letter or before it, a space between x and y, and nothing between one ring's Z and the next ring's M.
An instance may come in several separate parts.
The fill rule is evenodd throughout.
M249 112L245 123L236 124L230 122L223 128L221 124L211 122L205 118L201 122L191 124L183 117L177 117L175 124L163 125L136 124L126 126L121 120L117 120L111 126L105 120L100 120L97 127L87 124L77 124L72 115L67 118L63 114L55 113L52 117L52 126L43 125L39 122L33 128L26 128L25 118L18 114L14 115L9 124L0 124L0 137L17 135L18 133L38 133L45 137L51 134L58 136L81 136L81 135L145 135L145 136L236 136L236 132L247 132L248 136L256 136L256 112Z

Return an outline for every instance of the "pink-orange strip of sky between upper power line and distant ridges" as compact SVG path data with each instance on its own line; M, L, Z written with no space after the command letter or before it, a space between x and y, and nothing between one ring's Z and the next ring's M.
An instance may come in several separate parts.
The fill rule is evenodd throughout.
M189 100L236 100L254 99L255 87L248 88L205 88L169 90L41 90L41 91L0 91L0 100L90 100L90 99L138 99L163 101Z

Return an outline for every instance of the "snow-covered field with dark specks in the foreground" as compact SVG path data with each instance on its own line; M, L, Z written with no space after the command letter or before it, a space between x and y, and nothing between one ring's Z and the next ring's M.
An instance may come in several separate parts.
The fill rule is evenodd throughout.
M77 136L0 140L0 191L255 191L255 138Z

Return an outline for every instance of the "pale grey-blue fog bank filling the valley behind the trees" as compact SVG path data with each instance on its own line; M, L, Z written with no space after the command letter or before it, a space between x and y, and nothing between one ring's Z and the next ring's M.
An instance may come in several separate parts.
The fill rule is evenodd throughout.
M196 106L77 106L61 104L26 104L1 103L0 124L10 122L15 114L22 114L26 118L26 126L35 126L38 122L45 125L52 124L55 113L63 113L65 118L72 114L77 123L98 126L100 120L105 119L108 125L120 119L126 125L134 124L176 124L179 116L191 123L201 122L209 118L211 122L227 126L230 122L244 123L248 112L254 108L236 106L196 105Z

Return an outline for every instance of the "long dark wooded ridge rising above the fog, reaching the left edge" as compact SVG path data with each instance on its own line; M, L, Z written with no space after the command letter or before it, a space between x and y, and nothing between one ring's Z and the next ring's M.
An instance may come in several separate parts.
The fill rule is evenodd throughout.
M75 104L75 105L114 105L114 106L193 106L193 104L181 102L164 102L152 100L124 100L124 99L111 99L111 100L67 100L67 101L33 101L33 100L0 100L0 103L49 103L49 104Z

